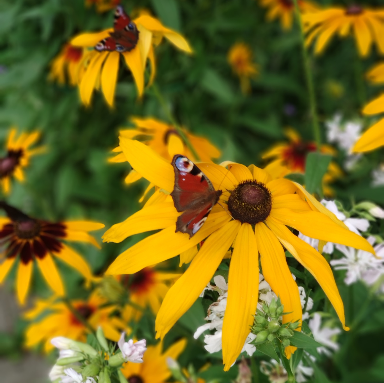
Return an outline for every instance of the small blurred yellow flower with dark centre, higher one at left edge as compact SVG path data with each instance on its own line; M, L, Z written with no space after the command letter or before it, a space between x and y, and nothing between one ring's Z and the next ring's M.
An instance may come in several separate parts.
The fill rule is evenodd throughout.
M16 128L10 129L5 145L7 155L0 158L0 181L5 194L10 192L11 178L23 182L25 179L23 168L29 165L29 159L45 150L43 146L30 149L30 146L39 139L40 132L21 133L18 137L16 132Z

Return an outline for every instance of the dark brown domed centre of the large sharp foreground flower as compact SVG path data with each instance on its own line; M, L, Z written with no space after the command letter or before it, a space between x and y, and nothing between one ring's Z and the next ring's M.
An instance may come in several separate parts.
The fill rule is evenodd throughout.
M265 220L271 212L271 192L261 182L243 181L228 199L228 210L234 219L255 225Z

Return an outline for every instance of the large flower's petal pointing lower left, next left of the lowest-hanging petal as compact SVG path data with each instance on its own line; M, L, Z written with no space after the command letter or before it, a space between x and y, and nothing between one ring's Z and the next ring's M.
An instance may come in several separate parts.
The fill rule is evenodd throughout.
M175 282L165 296L156 317L156 338L163 338L176 321L199 298L220 265L224 254L232 245L240 225L239 221L233 220L209 235L187 271Z

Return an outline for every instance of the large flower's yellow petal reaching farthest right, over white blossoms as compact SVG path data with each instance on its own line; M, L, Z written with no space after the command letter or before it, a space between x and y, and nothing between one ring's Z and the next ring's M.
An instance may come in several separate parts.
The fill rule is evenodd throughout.
M366 239L339 226L325 214L314 211L295 212L291 209L273 209L270 216L308 237L340 243L375 254L373 247Z

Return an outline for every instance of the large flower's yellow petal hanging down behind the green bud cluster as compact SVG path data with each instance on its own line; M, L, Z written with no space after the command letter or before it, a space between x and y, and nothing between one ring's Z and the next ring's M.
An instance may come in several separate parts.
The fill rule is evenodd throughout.
M255 235L260 252L262 274L273 292L280 296L284 312L289 313L283 316L283 323L301 321L299 289L288 268L283 247L275 234L262 222L256 224Z

